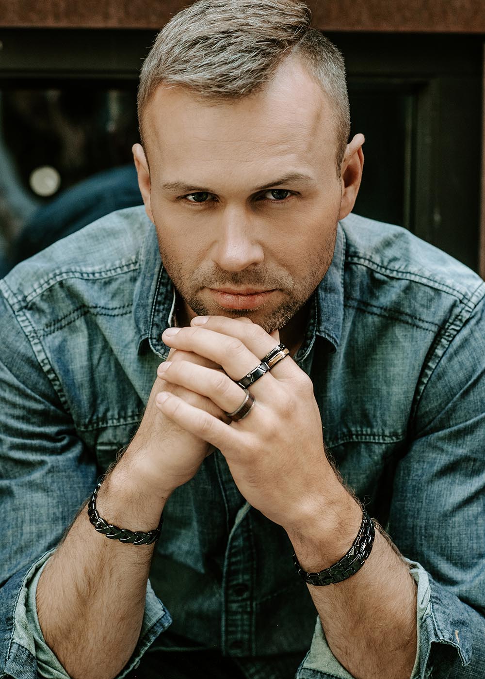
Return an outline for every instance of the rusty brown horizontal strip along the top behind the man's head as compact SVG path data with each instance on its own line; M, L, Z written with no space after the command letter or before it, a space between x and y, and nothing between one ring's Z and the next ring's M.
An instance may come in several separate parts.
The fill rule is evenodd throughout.
M0 0L0 26L158 29L190 1ZM485 33L485 0L308 0L326 31Z

